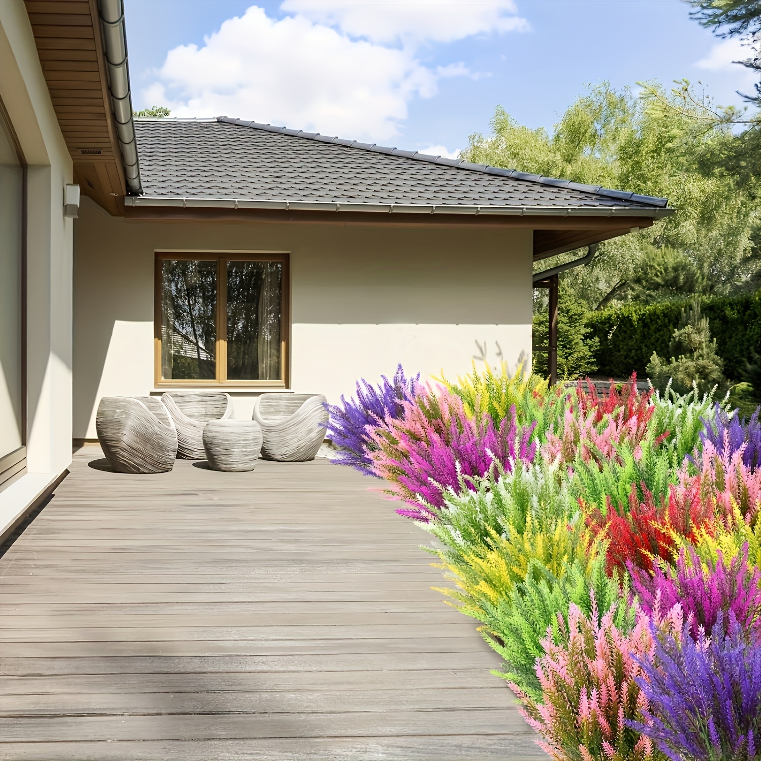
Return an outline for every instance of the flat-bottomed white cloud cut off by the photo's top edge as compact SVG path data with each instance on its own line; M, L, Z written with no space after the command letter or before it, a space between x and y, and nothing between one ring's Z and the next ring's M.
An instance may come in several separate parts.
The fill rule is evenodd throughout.
M284 0L281 8L380 43L450 43L528 29L514 0Z

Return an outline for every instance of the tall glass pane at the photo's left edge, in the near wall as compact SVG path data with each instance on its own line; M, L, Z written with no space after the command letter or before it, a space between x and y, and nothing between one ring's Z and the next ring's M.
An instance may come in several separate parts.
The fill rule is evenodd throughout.
M21 244L24 174L0 119L0 457L24 444L21 418Z

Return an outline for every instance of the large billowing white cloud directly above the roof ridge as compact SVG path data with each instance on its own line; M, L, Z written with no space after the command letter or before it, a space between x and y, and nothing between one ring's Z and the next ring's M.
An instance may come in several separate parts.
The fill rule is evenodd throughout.
M167 54L146 103L173 116L240 116L355 138L387 140L436 75L406 50L349 40L303 17L267 18L253 6L202 47Z

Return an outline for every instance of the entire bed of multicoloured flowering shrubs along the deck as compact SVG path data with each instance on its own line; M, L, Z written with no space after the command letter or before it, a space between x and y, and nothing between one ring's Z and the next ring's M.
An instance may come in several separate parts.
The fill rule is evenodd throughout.
M758 411L400 368L331 412L340 460L438 540L552 756L761 759Z

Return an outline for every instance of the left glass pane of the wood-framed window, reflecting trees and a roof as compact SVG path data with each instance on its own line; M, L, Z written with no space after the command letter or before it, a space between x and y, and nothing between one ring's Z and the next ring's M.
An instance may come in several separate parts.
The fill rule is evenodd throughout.
M215 380L217 263L161 262L161 375Z

